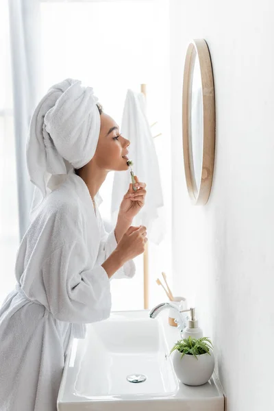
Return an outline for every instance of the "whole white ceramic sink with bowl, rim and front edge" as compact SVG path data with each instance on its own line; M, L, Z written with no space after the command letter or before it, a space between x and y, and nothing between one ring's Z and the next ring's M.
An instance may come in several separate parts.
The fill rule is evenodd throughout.
M177 329L167 325L165 315L150 319L148 310L112 312L109 319L88 324L86 337L73 339L58 410L192 410L180 401L186 399L184 384L169 356L170 338L173 343L180 338Z

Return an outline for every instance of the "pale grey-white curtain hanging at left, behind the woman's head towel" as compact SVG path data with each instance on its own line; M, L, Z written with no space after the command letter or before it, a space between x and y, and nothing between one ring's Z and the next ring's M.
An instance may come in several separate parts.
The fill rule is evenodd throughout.
M40 1L10 0L9 11L21 239L29 225L29 208L33 192L27 174L25 147L29 121L40 95Z

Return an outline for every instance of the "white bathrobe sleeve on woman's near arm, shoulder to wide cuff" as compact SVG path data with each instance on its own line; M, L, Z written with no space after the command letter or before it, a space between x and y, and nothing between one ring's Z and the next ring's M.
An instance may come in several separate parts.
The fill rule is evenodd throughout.
M100 241L97 225L87 225L77 204L53 197L21 245L16 270L23 271L18 277L27 298L60 321L107 319L112 301L110 279L97 259Z

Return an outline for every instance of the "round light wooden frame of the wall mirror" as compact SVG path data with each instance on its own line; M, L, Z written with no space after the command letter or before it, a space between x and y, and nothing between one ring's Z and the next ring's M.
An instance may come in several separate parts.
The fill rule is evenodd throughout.
M195 62L195 59L192 58L193 51L196 51L196 58L199 58L201 69L201 89L203 96L203 164L201 169L201 182L198 191L195 190L196 184L192 164L192 153L190 153L191 147L189 145L189 131L191 125L191 107L189 107L189 103L191 103L190 87L192 86L192 75ZM188 194L192 204L198 206L206 204L208 198L210 197L214 170L216 128L212 64L208 45L203 39L192 40L186 51L182 108L184 171L186 174L186 185L188 187Z

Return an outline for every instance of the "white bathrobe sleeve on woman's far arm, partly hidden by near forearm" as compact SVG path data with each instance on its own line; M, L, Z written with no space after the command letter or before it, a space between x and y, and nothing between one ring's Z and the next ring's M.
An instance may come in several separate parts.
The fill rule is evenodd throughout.
M103 224L103 220L101 219L101 216L99 215L99 221L100 221L100 232L101 232L101 243L99 247L99 261L101 261L101 264L103 261L105 261L110 254L116 249L117 247L117 241L115 237L115 229L112 229L110 234L105 231L105 226ZM127 261L121 269L116 271L110 279L121 279L121 278L132 278L134 277L136 273L136 266L134 264L133 260Z

